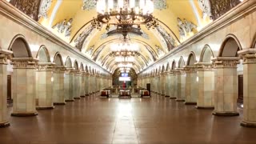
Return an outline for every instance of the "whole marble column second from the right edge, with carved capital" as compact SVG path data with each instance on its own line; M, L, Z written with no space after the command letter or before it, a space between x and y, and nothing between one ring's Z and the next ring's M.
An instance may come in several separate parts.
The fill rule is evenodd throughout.
M213 58L214 62L214 115L237 116L239 57Z

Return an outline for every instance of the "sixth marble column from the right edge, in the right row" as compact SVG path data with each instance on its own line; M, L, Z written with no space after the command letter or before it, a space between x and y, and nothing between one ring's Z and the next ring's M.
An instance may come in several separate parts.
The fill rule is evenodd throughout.
M175 70L170 70L170 99L177 98L177 82Z

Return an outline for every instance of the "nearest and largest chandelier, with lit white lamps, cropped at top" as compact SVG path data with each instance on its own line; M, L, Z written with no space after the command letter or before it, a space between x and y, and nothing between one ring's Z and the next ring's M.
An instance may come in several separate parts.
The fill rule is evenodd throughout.
M132 26L146 25L146 28L158 26L158 19L153 17L153 0L98 0L97 18L91 25L98 30L106 24L106 30L110 25L128 29Z

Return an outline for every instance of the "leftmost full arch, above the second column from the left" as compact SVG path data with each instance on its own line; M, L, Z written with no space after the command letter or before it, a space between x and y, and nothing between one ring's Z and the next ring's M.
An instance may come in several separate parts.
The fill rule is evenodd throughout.
M10 42L8 50L13 51L14 58L32 58L30 46L22 34L14 36Z

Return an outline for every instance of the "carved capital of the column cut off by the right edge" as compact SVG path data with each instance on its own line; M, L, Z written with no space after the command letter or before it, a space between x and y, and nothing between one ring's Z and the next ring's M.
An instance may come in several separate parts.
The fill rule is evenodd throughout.
M256 63L256 49L249 48L238 51L238 54L242 57L243 64Z

